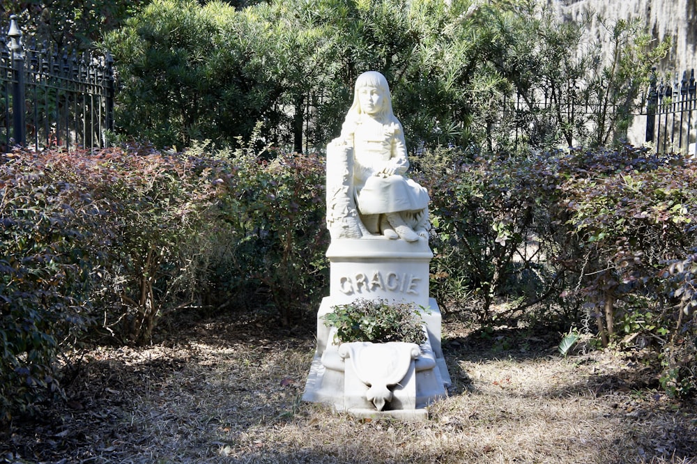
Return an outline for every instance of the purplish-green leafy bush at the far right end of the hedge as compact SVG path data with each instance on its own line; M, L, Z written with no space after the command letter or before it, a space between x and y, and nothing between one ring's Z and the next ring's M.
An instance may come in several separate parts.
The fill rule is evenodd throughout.
M661 385L687 394L697 387L697 165L632 148L621 153L640 156L566 185L569 232L587 263L581 293L604 345L613 334L657 342Z

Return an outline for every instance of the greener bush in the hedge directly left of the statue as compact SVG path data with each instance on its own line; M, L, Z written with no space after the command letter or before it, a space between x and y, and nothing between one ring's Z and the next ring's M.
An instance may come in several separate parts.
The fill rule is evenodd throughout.
M325 291L329 245L325 169L316 154L278 153L273 160L238 150L217 214L229 226L230 291L270 292L284 323L317 304Z

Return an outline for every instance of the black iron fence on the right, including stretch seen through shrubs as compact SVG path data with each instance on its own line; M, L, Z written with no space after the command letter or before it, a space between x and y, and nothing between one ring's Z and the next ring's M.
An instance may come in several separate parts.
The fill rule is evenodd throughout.
M641 95L641 110L629 107L591 105L581 93L569 85L558 94L553 86L530 91L526 95L513 93L503 98L500 113L494 113L505 137L514 146L525 144L575 145L583 141L606 144L613 139L628 139L633 144L650 146L655 153L696 153L697 141L697 81L693 70L667 75L659 80L654 72L648 92ZM559 90L559 89L557 89ZM577 90L577 89L576 89ZM629 105L631 107L631 105ZM636 108L636 107L635 107ZM629 125L615 125L608 118L615 115L629 118ZM604 127L599 127L604 123ZM589 139L589 134L595 138ZM493 142L495 143L495 142Z

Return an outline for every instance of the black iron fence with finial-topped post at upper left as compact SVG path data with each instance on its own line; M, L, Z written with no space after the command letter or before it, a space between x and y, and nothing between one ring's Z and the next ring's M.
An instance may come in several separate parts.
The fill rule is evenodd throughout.
M0 41L0 148L107 146L114 114L108 54L24 47L14 15Z

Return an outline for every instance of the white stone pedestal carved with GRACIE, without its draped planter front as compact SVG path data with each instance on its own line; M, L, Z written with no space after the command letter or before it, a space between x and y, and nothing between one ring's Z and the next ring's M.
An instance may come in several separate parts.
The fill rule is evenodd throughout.
M425 419L426 406L445 396L445 387L450 385L441 351L441 311L436 300L429 297L429 261L433 253L428 242L382 237L332 240L327 257L330 295L323 299L317 314L317 350L302 399L329 403L336 410L360 417ZM418 305L428 335L420 346L421 355L411 360L404 377L395 382L394 399L382 411L365 398L369 386L340 353L347 352L344 345L351 343L335 345L333 332L324 323L332 307L358 299Z

